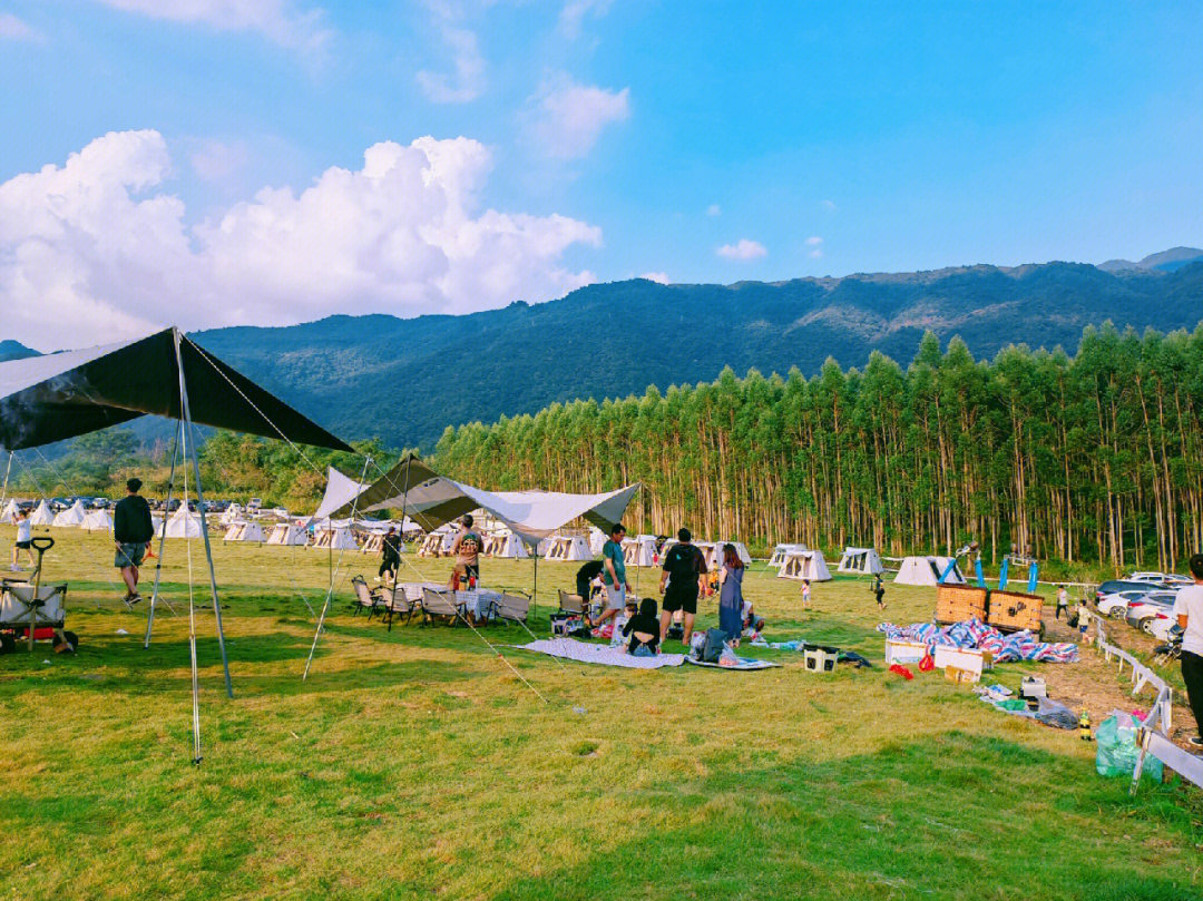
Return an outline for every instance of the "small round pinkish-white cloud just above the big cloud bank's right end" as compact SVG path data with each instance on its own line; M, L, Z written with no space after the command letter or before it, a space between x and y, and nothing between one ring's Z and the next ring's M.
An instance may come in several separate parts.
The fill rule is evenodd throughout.
M588 154L602 130L630 117L630 89L577 84L565 75L545 81L527 101L527 138L545 155L562 160Z

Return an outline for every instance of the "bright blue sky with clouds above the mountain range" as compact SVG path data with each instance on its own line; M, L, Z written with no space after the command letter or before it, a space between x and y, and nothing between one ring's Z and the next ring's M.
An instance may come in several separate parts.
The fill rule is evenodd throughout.
M160 314L463 312L642 273L729 283L1198 245L1199 34L1196 2L0 0L0 337L120 337ZM64 168L108 132L141 137ZM256 203L422 136L473 146L431 164L442 200L413 180L381 197L450 196L451 225L380 223L354 184L308 212ZM13 186L47 165L75 172L66 201L58 176ZM94 200L114 191L114 211ZM310 243L265 232L265 215ZM277 279L342 241L314 219L373 239L300 286ZM103 227L128 242L97 250ZM491 249L464 249L481 231ZM59 300L36 309L35 266L73 273L41 285ZM229 294L251 300L230 309Z

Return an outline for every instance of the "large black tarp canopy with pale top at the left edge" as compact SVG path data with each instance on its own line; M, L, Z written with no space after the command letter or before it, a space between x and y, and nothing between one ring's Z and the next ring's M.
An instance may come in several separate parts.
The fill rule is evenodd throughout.
M192 422L352 451L174 328L0 363L0 447L36 447L146 414L184 419L180 366Z

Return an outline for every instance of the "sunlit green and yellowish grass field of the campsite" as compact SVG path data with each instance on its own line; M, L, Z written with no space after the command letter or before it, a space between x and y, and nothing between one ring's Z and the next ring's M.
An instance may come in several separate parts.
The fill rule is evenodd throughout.
M12 529L0 529L5 551ZM1094 770L1094 746L998 713L940 674L881 665L864 581L800 610L753 571L770 640L860 651L873 670L629 671L505 651L540 701L466 628L351 617L346 553L327 634L301 681L324 552L215 546L235 680L225 698L203 552L172 541L155 640L128 612L107 539L58 535L77 656L0 657L0 897L13 899L1198 899L1203 802ZM190 759L188 552L197 583L205 760ZM337 555L336 555L337 558ZM408 556L444 579L446 561ZM402 576L414 576L403 565ZM540 623L575 564L540 564ZM654 574L642 571L645 588ZM531 562L485 562L529 588ZM929 620L930 589L889 591ZM716 621L713 600L703 624ZM129 634L118 634L125 629ZM490 628L499 644L527 639ZM671 650L671 648L670 648ZM49 663L46 663L49 660ZM1045 675L1095 722L1125 681ZM1085 692L1083 686L1090 686ZM1185 716L1179 713L1179 717Z

